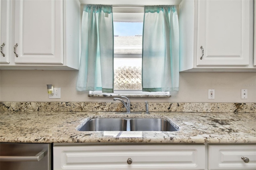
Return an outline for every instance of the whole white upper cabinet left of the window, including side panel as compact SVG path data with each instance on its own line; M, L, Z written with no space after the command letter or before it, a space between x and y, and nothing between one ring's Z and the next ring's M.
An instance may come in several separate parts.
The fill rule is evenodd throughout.
M78 0L4 0L0 13L0 43L10 57L1 55L0 69L78 69Z

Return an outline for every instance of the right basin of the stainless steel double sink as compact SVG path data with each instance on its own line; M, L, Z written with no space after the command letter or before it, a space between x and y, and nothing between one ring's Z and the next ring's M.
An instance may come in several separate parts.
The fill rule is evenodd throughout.
M178 131L168 121L164 119L131 119L131 131Z

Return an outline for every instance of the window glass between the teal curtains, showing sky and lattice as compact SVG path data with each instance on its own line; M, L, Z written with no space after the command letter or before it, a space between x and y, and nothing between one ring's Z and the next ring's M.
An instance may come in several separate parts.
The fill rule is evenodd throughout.
M142 22L114 22L114 90L142 90Z

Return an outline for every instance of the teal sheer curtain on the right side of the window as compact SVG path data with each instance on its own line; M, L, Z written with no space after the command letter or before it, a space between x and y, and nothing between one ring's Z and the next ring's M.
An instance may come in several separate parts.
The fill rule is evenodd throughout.
M142 91L179 90L179 24L175 6L145 6Z

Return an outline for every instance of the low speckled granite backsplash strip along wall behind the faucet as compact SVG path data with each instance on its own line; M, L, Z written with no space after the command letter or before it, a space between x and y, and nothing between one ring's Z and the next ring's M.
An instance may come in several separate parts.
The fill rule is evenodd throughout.
M116 102L0 102L0 111L126 111ZM145 111L144 102L132 102L131 111ZM256 103L157 103L149 112L243 112L256 113Z

